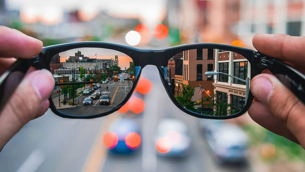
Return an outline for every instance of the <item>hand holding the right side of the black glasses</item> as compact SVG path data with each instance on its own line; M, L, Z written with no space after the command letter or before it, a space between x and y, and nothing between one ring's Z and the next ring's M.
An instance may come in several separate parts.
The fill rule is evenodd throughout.
M252 43L261 53L282 59L305 73L305 37L257 34ZM268 70L251 80L250 90L255 97L248 110L250 117L305 149L304 104Z

